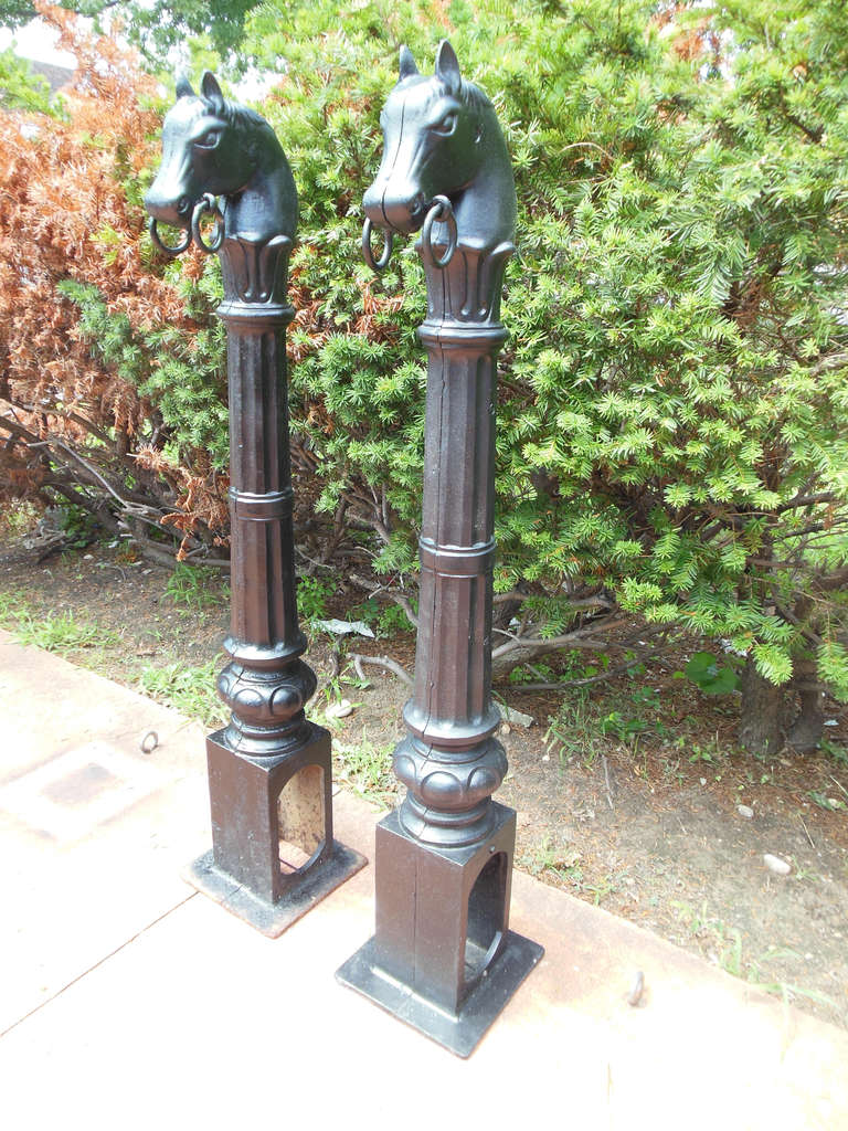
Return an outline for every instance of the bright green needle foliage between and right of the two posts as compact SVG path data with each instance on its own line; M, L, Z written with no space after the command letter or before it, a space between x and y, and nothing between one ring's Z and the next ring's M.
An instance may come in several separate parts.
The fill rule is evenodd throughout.
M254 12L251 51L286 61L265 110L302 199L297 424L321 506L388 503L388 528L366 515L382 570L415 561L423 277L406 247L373 279L356 234L398 44L426 69L444 35L508 126L518 183L497 587L539 598L539 650L603 586L649 621L729 638L776 684L814 653L845 694L845 6Z

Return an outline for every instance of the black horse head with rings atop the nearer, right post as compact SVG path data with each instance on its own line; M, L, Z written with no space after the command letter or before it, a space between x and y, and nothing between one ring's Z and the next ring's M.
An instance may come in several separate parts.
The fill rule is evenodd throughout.
M483 256L512 250L516 189L507 145L492 103L462 78L447 40L429 77L408 48L400 49L400 77L380 123L382 162L363 198L363 252L373 269L387 266L393 234L421 231L422 258L436 268L447 267L458 247ZM371 251L374 225L386 233L379 261Z

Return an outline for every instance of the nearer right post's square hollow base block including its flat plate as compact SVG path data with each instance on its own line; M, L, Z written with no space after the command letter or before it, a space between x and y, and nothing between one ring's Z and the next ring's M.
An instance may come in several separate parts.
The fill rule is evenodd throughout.
M338 970L358 990L459 1056L468 1056L542 947L509 930L516 814L492 803L482 844L414 839L397 813L377 827L377 932Z

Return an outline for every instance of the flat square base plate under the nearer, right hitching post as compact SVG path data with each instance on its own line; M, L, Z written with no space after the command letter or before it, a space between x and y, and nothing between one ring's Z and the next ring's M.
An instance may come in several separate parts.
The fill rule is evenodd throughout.
M388 1010L399 1021L412 1025L457 1056L465 1057L470 1056L544 953L538 943L509 931L500 956L456 1015L434 1005L410 986L381 970L374 962L373 938L348 958L336 972L336 977Z

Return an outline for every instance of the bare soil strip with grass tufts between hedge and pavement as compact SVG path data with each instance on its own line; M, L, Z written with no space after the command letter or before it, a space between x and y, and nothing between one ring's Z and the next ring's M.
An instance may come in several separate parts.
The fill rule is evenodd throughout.
M123 544L36 556L0 545L3 627L28 625L33 642L148 691L152 671L217 664L224 575L180 592L171 570L133 561ZM326 614L344 616L365 596L339 582ZM64 647L61 632L40 632L64 613L97 633ZM391 748L408 691L372 666L370 687L349 682L344 653L389 655L412 670L414 636L356 638L340 663L326 633L312 637L315 713L340 698L353 703L331 723L337 777L391 804ZM496 689L534 719L501 734L510 772L497 798L519 814L518 866L848 1027L848 710L828 702L828 741L816 754L754 759L734 742L737 698L703 697L680 677L685 661L682 649L590 693ZM156 694L167 699L167 689ZM789 874L772 873L767 853Z

